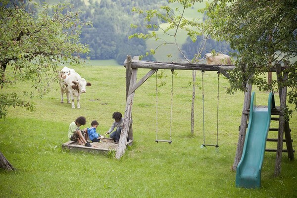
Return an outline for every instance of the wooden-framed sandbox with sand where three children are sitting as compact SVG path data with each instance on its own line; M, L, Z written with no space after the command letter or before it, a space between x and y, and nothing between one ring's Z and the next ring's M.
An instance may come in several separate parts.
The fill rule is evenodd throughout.
M131 146L133 140L129 140L126 143L126 146ZM84 145L79 145L77 141L69 141L62 144L62 148L67 148L70 151L86 151L86 152L99 152L99 153L107 153L109 151L116 151L118 145L114 143L111 138L105 138L99 143L90 143L92 147L86 147Z

